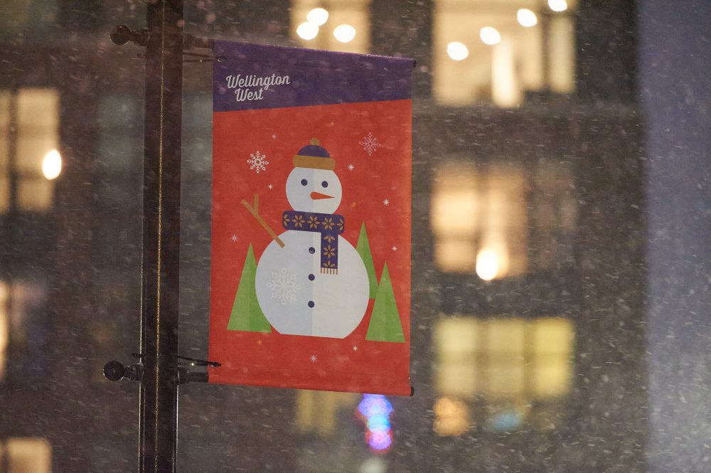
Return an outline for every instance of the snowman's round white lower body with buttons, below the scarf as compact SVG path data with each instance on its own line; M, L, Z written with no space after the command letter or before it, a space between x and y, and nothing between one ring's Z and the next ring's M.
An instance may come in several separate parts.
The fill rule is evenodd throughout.
M321 272L321 234L287 230L257 264L260 308L280 334L342 339L368 307L368 273L348 240L338 237L338 273Z

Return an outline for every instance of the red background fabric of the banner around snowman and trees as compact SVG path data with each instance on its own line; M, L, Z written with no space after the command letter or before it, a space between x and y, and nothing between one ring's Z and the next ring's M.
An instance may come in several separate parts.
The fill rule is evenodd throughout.
M222 366L211 383L410 394L411 110L395 100L213 114L209 357ZM360 144L369 133L380 143L371 155ZM341 236L355 247L365 222L378 280L387 262L406 343L365 340L373 299L344 339L227 329L247 248L258 263L272 240L240 201L258 194L260 215L282 233L292 157L313 137L336 160ZM257 151L269 161L259 174L247 163Z

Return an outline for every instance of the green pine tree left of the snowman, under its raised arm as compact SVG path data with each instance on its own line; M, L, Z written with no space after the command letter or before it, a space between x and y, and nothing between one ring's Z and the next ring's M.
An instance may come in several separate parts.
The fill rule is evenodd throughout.
M257 262L255 253L252 251L252 244L247 250L245 266L242 268L240 285L237 286L235 304L232 305L230 323L228 330L241 331L261 331L270 333L272 326L264 317L260 303L257 301L257 288L255 287L255 275L257 274Z

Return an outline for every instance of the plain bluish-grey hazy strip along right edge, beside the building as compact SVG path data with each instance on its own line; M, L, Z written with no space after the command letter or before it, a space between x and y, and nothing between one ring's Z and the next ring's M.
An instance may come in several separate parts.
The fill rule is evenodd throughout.
M641 0L651 472L711 471L711 1Z

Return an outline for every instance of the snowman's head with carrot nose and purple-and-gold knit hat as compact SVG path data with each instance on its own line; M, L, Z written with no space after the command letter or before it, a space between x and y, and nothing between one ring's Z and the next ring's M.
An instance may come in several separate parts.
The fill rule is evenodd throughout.
M311 138L294 156L294 169L287 177L287 200L292 208L299 212L335 212L343 196L335 168L336 161L318 139Z

